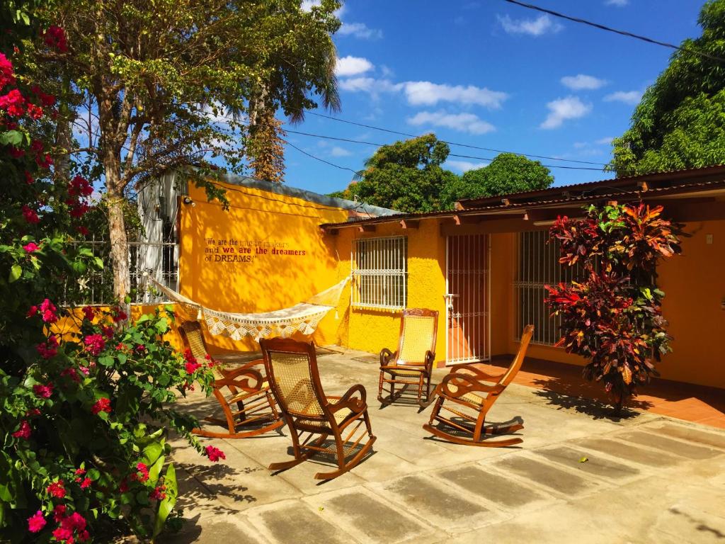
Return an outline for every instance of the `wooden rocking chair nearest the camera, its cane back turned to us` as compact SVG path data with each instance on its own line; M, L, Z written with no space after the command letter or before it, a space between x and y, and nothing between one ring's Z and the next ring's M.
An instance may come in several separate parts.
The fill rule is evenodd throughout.
M272 391L289 426L294 449L294 459L272 463L269 469L290 469L315 453L328 453L336 456L338 469L318 472L315 478L333 479L360 463L376 439L365 404L365 387L357 384L341 397L328 397L320 383L314 342L273 338L260 340L260 345ZM355 434L359 436L353 440ZM366 435L368 440L360 446ZM313 437L317 438L312 440ZM326 444L328 437L334 444Z

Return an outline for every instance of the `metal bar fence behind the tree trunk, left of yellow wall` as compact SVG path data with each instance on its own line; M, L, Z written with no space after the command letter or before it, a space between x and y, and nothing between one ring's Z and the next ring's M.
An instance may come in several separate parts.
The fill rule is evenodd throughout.
M113 272L110 243L107 239L76 242L90 247L96 257L101 257L102 271L88 271L77 284L65 285L65 302L78 305L107 305L113 302ZM149 289L149 277L160 284L179 290L179 248L175 242L129 242L130 287L132 304L157 304L170 302Z

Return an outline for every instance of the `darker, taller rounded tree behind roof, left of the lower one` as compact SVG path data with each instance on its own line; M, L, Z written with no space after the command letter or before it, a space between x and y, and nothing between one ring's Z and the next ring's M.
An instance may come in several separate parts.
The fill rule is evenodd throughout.
M334 196L407 213L439 210L442 188L457 178L441 167L449 153L434 134L383 146L365 162L362 180Z

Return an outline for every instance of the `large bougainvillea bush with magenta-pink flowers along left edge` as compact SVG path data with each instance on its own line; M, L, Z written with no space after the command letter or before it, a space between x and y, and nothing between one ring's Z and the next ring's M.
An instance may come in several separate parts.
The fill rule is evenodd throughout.
M36 39L67 47L57 26ZM7 54L0 53L0 541L87 542L109 524L153 537L175 519L167 431L211 461L223 458L202 448L189 434L195 421L172 408L194 382L208 389L212 361L179 355L163 341L171 313L129 324L118 309L72 310L66 286L103 264L77 240L87 232L94 189L54 169L56 97L25 81Z

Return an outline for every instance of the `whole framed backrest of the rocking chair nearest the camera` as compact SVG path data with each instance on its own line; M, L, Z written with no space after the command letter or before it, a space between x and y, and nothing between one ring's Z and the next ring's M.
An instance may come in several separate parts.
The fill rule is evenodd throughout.
M324 418L326 403L314 342L260 339L270 386L282 408L293 416Z

